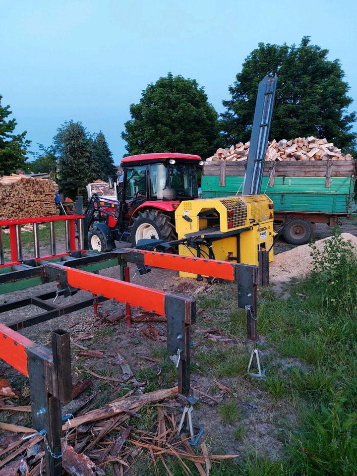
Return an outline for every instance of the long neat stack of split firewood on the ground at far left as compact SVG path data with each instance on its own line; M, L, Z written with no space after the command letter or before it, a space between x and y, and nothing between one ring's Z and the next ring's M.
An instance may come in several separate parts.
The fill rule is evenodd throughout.
M58 185L51 179L0 177L0 220L56 215L56 190Z

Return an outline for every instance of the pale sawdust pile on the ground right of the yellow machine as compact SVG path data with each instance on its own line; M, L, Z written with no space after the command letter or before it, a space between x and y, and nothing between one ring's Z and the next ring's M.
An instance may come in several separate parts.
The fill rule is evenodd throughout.
M342 233L342 238L352 241L357 252L357 237L350 233ZM326 240L315 241L318 249L323 249ZM308 244L284 251L274 256L274 262L269 266L269 280L272 283L288 282L291 278L302 278L312 270L311 248Z

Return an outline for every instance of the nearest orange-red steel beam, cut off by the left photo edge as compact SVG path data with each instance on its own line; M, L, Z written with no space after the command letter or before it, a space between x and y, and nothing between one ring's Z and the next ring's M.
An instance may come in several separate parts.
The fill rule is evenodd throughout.
M28 377L27 349L37 348L48 360L52 360L52 353L46 347L39 346L22 336L18 332L0 324L0 359Z

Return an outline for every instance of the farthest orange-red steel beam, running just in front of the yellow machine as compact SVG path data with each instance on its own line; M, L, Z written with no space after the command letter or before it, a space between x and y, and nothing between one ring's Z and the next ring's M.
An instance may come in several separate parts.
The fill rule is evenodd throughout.
M143 249L125 248L122 251L140 253L144 257L144 264L156 268L173 269L175 271L185 271L187 273L202 274L214 278L234 281L235 264L228 261L217 261L214 259L194 258L190 256L179 256L178 254L158 253ZM123 255L125 259L125 255Z

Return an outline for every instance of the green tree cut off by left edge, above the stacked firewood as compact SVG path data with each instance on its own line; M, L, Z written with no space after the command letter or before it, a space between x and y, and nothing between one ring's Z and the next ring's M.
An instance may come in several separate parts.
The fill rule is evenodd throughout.
M16 169L26 169L26 151L30 145L25 139L26 131L14 134L16 119L9 119L10 106L1 106L0 95L0 175L8 175Z

